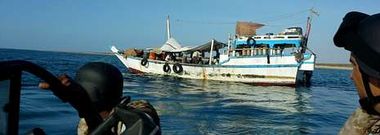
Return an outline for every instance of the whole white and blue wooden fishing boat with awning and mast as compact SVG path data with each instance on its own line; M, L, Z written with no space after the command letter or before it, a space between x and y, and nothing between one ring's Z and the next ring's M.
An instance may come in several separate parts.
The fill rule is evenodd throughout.
M310 84L316 59L307 48L310 30L303 35L302 28L290 27L278 34L256 35L261 26L238 22L237 34L229 36L227 43L212 39L182 47L171 37L167 19L168 39L160 48L120 51L112 46L111 50L133 73L259 85Z

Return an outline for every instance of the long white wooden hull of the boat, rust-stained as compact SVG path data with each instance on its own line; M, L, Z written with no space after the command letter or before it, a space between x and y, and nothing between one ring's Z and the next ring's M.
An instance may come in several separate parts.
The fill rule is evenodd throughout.
M115 51L114 51L115 52ZM294 56L250 58L230 58L219 65L198 65L181 63L183 72L164 72L165 61L148 60L146 66L141 65L142 58L128 57L115 53L118 59L132 72L170 75L189 79L216 81L232 81L261 85L295 85L299 64Z

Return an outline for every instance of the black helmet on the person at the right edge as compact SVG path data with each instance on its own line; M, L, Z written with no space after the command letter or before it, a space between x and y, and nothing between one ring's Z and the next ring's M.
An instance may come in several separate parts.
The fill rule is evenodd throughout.
M365 74L380 79L380 14L347 13L334 43L351 51Z

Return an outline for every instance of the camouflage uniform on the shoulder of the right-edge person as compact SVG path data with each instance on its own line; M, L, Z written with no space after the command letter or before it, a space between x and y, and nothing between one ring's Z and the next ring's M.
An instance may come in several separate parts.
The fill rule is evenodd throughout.
M380 135L380 116L358 108L340 129L340 135Z

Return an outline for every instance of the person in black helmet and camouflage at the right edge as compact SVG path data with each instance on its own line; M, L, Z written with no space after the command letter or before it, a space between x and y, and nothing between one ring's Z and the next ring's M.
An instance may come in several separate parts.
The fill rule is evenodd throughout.
M351 79L361 106L339 134L380 134L380 14L347 13L334 43L351 52Z

